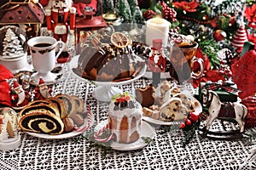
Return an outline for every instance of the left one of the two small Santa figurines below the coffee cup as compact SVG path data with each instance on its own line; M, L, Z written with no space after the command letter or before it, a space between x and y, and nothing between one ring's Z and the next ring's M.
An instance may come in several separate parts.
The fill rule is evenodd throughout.
M32 101L32 95L24 90L19 82L17 82L16 80L14 81L13 88L10 90L9 95L11 105L14 107L22 107Z

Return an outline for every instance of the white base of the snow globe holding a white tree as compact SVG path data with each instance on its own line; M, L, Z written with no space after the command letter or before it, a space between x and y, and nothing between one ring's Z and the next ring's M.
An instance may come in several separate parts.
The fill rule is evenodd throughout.
M27 64L27 53L20 54L20 56L15 57L14 59L3 59L0 57L0 65L4 65L9 69L9 71L15 73L24 69Z

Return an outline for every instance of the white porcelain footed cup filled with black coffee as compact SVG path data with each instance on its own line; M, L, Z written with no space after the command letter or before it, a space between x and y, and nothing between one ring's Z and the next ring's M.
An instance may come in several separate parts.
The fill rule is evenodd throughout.
M32 56L32 65L37 73L32 75L32 81L38 82L42 77L44 82L53 82L55 75L51 73L55 63L65 47L65 43L56 41L53 37L32 37L27 42ZM58 54L56 48L59 48Z

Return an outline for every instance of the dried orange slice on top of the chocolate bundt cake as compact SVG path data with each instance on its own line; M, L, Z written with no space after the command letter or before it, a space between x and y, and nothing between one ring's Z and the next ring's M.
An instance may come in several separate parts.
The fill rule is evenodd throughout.
M113 43L113 45L117 48L125 48L128 43L130 42L129 38L126 37L123 33L121 32L114 32L111 35L110 41Z

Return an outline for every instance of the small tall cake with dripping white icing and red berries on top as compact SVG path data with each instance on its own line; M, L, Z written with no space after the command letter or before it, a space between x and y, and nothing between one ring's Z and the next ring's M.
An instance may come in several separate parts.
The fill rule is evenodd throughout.
M143 108L128 93L113 96L109 105L109 130L119 143L132 143L140 138Z

